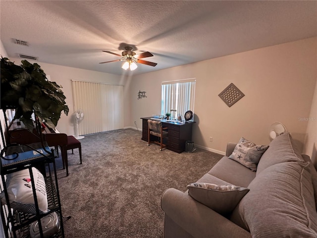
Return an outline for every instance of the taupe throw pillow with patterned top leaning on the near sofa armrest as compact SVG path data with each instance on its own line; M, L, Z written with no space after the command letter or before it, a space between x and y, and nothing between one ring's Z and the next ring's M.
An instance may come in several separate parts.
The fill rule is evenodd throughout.
M219 214L233 211L240 200L249 191L248 188L235 185L216 185L195 182L187 185L188 194L196 201L210 207Z

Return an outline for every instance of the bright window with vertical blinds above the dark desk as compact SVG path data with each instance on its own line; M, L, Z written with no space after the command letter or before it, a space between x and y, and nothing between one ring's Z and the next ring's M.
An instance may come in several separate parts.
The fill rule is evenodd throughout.
M194 113L195 84L195 78L162 82L161 115L171 113L172 119L178 116L184 119L186 111Z

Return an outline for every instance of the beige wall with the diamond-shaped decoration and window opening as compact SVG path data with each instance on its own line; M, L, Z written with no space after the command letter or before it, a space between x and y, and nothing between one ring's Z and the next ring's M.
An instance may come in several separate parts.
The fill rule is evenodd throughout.
M303 149L308 122L299 118L310 117L317 79L316 39L136 75L130 87L130 125L136 121L140 128L140 117L159 114L162 81L196 78L192 139L198 147L225 151L228 141L237 142L241 136L268 144L270 124L280 121ZM231 82L246 96L229 108L218 94ZM146 91L147 98L138 100L139 90Z

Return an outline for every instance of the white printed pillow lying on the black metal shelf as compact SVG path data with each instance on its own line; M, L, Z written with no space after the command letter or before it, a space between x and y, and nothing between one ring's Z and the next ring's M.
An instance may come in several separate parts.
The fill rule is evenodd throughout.
M48 198L46 184L43 175L36 168L32 168L36 196L40 214L48 212ZM11 208L24 212L36 214L34 196L29 169L9 174L5 181ZM6 204L4 191L0 194L1 203Z

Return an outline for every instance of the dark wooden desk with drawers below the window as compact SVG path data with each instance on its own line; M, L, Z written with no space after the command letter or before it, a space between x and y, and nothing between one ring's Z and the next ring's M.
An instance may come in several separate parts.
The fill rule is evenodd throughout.
M141 118L142 119L142 140L148 141L148 119L149 118ZM164 127L168 127L168 142L167 149L172 150L177 153L182 153L185 150L185 143L187 140L192 140L192 127L194 121L185 122L185 123L177 123L171 122L167 120L160 119L151 119L151 120L159 120L162 122Z

